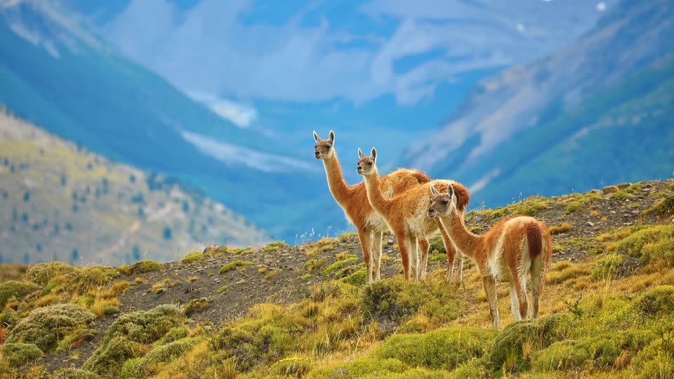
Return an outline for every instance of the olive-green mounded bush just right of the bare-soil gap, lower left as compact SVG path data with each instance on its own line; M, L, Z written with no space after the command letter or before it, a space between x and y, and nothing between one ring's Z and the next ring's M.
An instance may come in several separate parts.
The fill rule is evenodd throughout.
M103 336L103 345L115 337L124 337L138 343L152 343L183 323L183 312L177 305L159 305L148 311L121 315Z

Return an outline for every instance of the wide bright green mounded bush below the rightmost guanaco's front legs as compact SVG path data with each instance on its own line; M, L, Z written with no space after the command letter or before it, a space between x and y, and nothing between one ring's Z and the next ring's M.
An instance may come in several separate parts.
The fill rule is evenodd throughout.
M424 334L396 334L372 355L399 359L409 366L452 370L464 361L482 357L497 334L491 328L441 328Z

